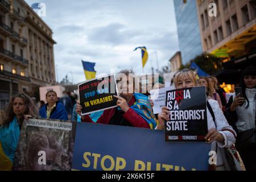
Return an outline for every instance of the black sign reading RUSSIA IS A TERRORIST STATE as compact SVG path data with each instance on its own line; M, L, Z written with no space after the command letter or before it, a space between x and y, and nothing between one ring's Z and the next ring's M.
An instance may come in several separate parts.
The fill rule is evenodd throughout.
M166 92L170 121L164 124L166 141L205 141L208 133L205 87Z

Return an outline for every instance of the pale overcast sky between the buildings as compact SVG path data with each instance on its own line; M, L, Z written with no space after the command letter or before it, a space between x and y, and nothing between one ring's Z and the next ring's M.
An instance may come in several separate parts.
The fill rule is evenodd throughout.
M56 80L68 75L75 83L85 80L81 60L96 63L97 76L111 68L142 73L141 51L146 46L144 73L168 64L179 51L172 0L26 0L46 4L43 20L51 27ZM72 73L71 73L72 72Z

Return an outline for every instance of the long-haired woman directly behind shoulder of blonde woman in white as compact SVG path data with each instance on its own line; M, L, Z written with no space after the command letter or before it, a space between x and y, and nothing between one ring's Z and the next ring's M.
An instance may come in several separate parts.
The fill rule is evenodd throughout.
M209 78L208 77L200 77L199 78L199 85L200 86L205 86L205 88L207 89L207 96L209 96L213 100L218 101L218 105L220 106L220 109L222 110L222 104L221 104L220 96L214 90L212 82L210 82ZM216 95L216 97L214 96L214 94Z

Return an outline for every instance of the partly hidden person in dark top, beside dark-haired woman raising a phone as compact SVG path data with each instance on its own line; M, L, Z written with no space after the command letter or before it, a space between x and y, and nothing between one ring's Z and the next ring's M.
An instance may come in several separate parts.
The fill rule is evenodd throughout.
M224 97L223 94L225 93L225 90L218 86L218 80L216 77L209 76L208 79L213 86L213 99L218 101L218 103L221 104L221 109L225 111L226 98Z

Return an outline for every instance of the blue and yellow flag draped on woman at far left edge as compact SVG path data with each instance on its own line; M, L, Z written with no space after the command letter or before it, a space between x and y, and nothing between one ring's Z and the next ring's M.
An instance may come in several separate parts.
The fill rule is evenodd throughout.
M14 117L9 127L0 127L0 170L11 170L20 135L19 123Z

